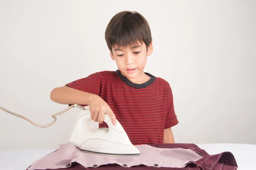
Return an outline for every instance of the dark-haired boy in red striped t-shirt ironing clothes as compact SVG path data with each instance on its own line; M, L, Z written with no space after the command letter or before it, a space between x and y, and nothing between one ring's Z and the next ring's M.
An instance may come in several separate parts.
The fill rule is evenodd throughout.
M91 118L108 127L104 113L125 129L131 143L174 143L171 127L177 125L172 90L168 82L143 71L152 54L151 30L137 13L116 14L105 40L117 71L100 71L52 90L60 104L89 105Z

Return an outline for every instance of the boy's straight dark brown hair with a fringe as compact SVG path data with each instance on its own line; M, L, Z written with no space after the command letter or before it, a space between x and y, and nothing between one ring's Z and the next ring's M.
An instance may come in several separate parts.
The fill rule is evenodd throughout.
M144 42L148 49L152 37L148 22L141 14L136 11L121 11L108 23L105 40L111 51L113 45L135 45L138 41Z

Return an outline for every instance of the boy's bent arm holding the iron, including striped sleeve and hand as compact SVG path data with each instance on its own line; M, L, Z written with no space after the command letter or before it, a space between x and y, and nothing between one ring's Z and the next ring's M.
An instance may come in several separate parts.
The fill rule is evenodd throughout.
M107 113L113 125L116 125L116 116L106 103L100 97L101 78L99 73L91 74L83 79L70 82L65 86L54 88L50 98L52 101L60 104L89 105L91 119L102 123L104 115Z

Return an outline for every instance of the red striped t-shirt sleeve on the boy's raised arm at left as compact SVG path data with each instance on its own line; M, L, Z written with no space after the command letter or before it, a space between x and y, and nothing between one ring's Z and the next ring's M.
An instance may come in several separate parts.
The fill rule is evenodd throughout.
M99 96L101 91L101 77L99 73L90 74L88 77L67 83L66 86Z

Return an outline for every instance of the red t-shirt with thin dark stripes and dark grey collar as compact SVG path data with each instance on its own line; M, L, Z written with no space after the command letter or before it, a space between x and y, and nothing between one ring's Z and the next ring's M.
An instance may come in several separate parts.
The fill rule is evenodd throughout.
M131 82L117 70L97 72L66 85L107 102L132 144L163 143L164 129L178 123L172 89L166 80L145 74L151 78L143 84ZM108 126L103 122L100 127Z

